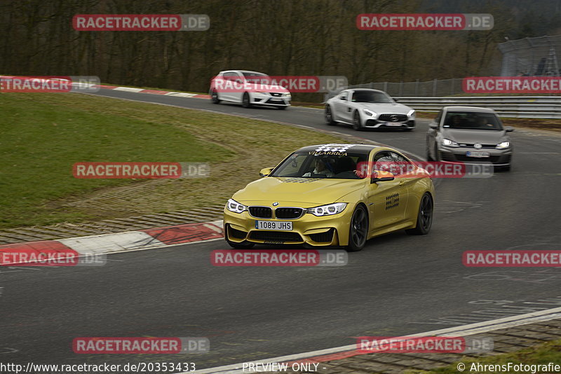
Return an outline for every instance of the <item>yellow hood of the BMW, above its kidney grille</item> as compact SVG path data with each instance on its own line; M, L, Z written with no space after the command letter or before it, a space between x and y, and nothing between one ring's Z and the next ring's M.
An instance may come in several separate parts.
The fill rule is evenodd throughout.
M233 199L241 204L257 201L299 202L302 207L337 202L344 195L365 186L365 179L280 178L266 176L236 192Z

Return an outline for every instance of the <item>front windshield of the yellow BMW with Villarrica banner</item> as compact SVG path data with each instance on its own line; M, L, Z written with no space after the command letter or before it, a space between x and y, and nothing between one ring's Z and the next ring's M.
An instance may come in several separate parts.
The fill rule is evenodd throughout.
M306 151L295 152L274 170L271 176L296 178L362 179L356 165L365 162L368 153Z

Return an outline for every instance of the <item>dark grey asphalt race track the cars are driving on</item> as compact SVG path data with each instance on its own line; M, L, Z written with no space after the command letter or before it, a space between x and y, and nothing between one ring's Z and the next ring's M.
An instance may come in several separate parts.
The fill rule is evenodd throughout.
M424 155L422 120L414 132L354 132L325 125L315 109L244 109L114 90L99 95L307 125ZM442 180L429 235L374 238L340 268L213 267L210 251L227 249L222 240L113 254L95 268L3 268L2 359L209 368L349 345L359 335L419 333L560 306L543 300L561 303L561 268L461 262L466 250L560 249L561 137L518 129L512 137L512 172ZM72 339L81 336L206 336L210 352L74 354Z

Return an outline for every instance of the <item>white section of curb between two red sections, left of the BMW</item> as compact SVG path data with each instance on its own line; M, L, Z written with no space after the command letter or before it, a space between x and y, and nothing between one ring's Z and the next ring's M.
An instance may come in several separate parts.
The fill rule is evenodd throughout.
M79 254L102 254L142 247L165 247L166 244L142 231L126 233L91 235L69 239L58 239L58 242L74 249Z

